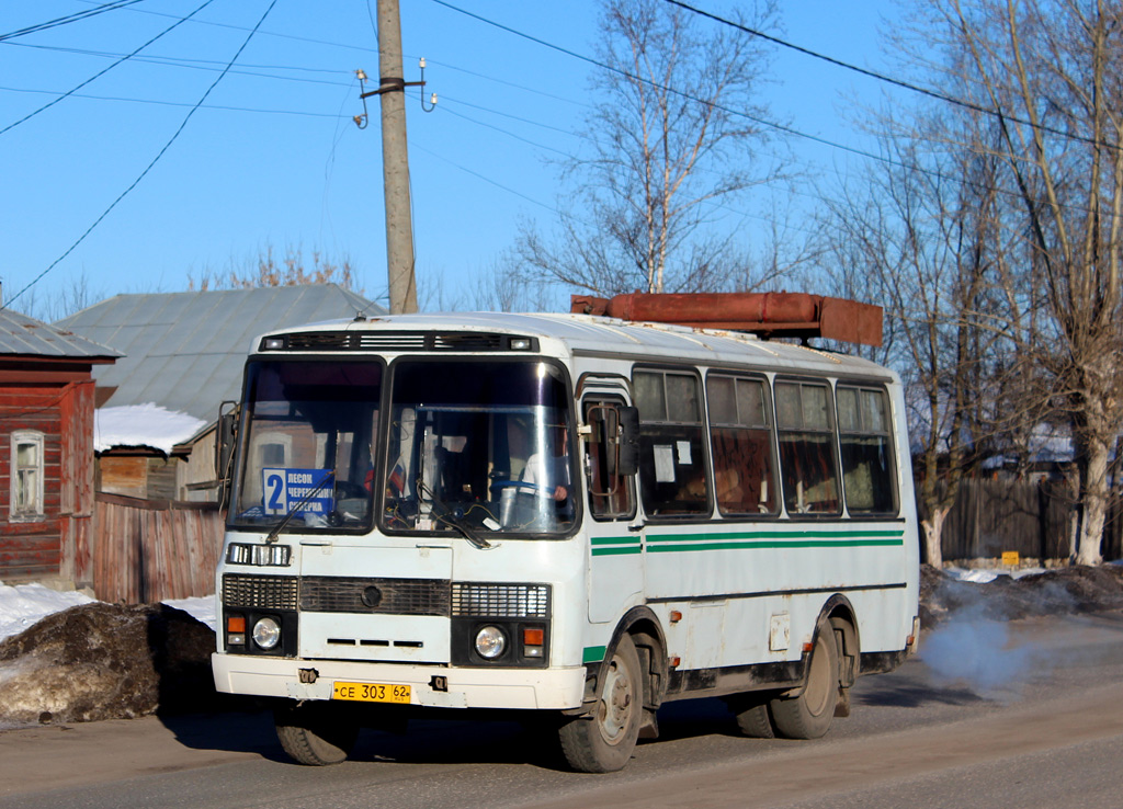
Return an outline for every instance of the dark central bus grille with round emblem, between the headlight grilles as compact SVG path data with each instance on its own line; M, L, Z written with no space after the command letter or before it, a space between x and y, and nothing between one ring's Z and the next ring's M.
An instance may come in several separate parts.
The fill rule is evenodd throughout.
M308 577L301 580L300 607L310 613L448 615L446 579Z

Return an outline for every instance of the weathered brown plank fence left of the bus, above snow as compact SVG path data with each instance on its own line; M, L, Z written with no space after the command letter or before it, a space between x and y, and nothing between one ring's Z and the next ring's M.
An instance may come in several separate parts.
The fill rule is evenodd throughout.
M93 589L103 601L146 604L214 591L222 513L213 503L99 493Z

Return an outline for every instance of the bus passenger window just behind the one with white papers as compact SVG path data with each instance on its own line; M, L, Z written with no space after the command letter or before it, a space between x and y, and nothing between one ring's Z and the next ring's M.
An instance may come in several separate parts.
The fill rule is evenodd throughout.
M776 514L773 432L763 379L706 377L713 491L722 514Z

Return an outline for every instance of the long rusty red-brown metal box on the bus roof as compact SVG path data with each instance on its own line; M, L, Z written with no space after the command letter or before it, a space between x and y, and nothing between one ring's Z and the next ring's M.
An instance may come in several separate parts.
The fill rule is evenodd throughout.
M882 344L880 306L804 292L633 292L611 298L572 295L569 304L574 313L620 320Z

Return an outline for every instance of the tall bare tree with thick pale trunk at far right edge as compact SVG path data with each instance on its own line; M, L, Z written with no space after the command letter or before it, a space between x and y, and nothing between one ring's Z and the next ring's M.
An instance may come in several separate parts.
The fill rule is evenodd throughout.
M1050 338L1032 350L1076 439L1076 559L1101 561L1107 465L1123 422L1123 7L1105 0L938 3L994 113L995 149L1040 275Z

